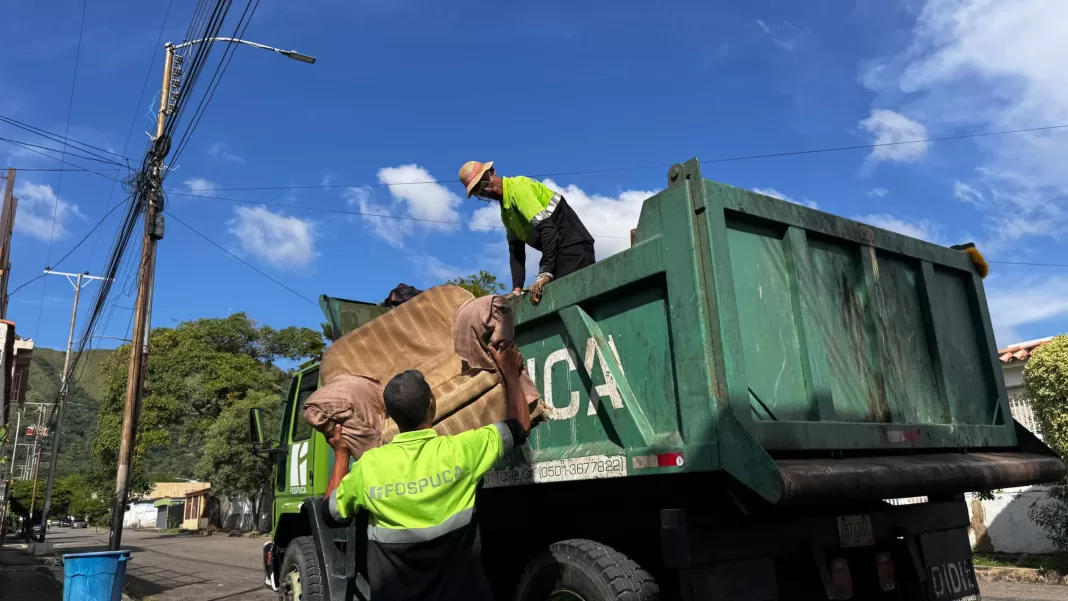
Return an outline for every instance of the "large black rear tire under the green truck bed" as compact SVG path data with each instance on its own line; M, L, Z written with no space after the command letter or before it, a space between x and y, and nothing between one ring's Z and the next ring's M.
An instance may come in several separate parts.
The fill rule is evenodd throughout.
M535 556L515 601L657 601L660 587L623 553L592 540L554 542Z

